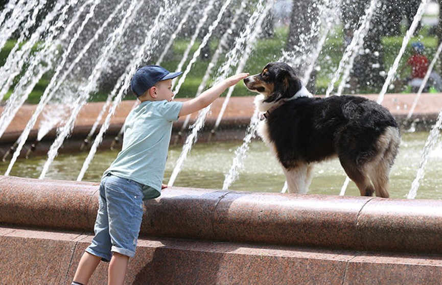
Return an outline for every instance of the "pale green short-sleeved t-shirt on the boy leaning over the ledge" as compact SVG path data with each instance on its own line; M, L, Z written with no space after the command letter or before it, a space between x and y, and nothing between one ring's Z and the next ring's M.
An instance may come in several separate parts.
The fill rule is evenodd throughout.
M173 122L182 102L144 101L124 123L123 147L104 172L145 185L144 200L160 195ZM153 188L153 189L152 189Z

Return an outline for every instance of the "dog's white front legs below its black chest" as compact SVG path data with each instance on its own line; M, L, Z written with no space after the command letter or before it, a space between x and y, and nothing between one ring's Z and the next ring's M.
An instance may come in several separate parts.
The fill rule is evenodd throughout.
M306 194L309 191L311 181L311 169L308 163L297 163L295 167L286 169L283 167L287 180L287 191L289 193ZM310 175L310 177L309 177Z

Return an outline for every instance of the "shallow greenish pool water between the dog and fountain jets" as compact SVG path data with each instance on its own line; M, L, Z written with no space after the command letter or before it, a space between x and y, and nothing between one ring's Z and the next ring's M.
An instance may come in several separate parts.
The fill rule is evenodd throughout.
M428 133L402 134L402 144L396 163L390 174L390 197L406 198L414 180ZM228 172L235 150L241 141L196 144L184 162L175 186L197 188L222 188L224 176ZM166 166L165 183L169 181L181 147L171 147ZM76 180L87 153L59 155L51 165L46 179ZM101 174L117 156L117 151L100 151L83 181L100 180ZM31 157L19 160L11 175L38 178L46 157ZM8 162L0 163L0 173L4 173ZM431 153L425 178L417 191L418 199L442 199L442 145L438 143ZM285 177L280 165L260 140L252 141L239 179L230 186L231 190L255 192L281 192ZM315 167L315 175L310 185L310 194L339 195L345 174L339 161L333 159ZM353 182L348 185L345 195L359 196Z

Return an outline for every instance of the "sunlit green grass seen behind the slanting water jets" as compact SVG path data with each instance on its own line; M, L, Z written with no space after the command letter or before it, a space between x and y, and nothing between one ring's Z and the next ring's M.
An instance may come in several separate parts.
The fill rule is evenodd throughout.
M429 57L429 60L431 61L431 56L436 52L437 49L437 38L436 37L429 37L429 36L423 36L426 35L428 32L427 28L423 28L420 31L420 35L413 37L413 39L410 41L421 41L424 43L426 49L425 54L427 57ZM282 51L286 47L286 38L288 35L288 29L287 28L278 28L275 31L275 34L272 38L266 38L266 39L259 39L257 41L257 44L254 47L254 51L251 54L250 58L248 59L244 71L250 72L251 74L259 73L262 69L262 67L270 61L275 61L278 58L281 57ZM166 61L161 63L162 66L167 68L168 70L174 71L177 68L178 63L180 62L182 55L187 48L189 39L185 38L177 38L173 45L173 55L169 58L167 58ZM397 36L397 37L384 37L382 39L383 44L383 50L384 50L384 64L385 64L385 72L388 72L388 69L392 65L394 59L396 59L401 46L402 46L403 36ZM334 70L337 68L339 61L342 58L343 55L343 44L342 44L342 31L337 29L335 31L334 35L331 35L330 38L325 42L322 53L318 59L318 64L320 66L320 70L316 74L316 88L319 90L318 92L323 92L331 79L331 76L334 73ZM210 54L213 55L215 52L217 46L219 43L218 38L214 38L210 41ZM8 41L2 51L0 51L0 65L3 65L6 61L6 58L10 52L10 50L13 48L15 42L14 41ZM199 42L196 42L189 55L188 62L193 56L193 53L196 51L196 49L199 46ZM37 47L36 47L37 48ZM405 55L403 56L401 60L401 66L405 63L406 59L410 55L410 49L407 48L407 51ZM225 54L221 56L220 62L218 65L213 69L214 72L218 70L219 66L225 61ZM208 59L202 59L201 57L198 58L198 60L193 65L191 72L188 74L187 78L184 81L184 84L181 86L179 93L177 94L177 98L190 98L194 97L198 86L201 82L201 79L205 73L205 70L208 66L208 63L210 62L211 58ZM188 62L186 62L183 67L181 68L182 71L186 68ZM439 68L439 66L436 66L436 68ZM235 72L235 69L232 70L232 73ZM44 92L45 87L48 85L51 77L51 75L45 75L43 78L38 82L38 84L35 86L34 90L29 95L29 98L27 100L27 103L36 104L39 101L39 98ZM406 75L403 75L405 77ZM16 83L17 79L15 80ZM211 84L211 83L209 83ZM339 81L336 83L336 86L339 84ZM360 90L363 92L373 92L373 91L379 91L379 90ZM107 98L107 94L110 92L110 90L99 90L97 93L93 94L91 96L91 101L104 101ZM6 94L4 100L6 100L10 94L12 93L12 88L9 90L9 92ZM254 93L251 93L250 91L246 90L246 88L243 86L243 84L238 84L235 88L235 91L233 92L232 96L248 96L253 95ZM132 94L127 94L124 98L125 100L133 100L134 97Z

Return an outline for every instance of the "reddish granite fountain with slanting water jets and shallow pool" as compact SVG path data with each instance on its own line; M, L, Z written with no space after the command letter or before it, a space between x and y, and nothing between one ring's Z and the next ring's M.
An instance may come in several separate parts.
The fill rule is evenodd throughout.
M291 3L284 0L3 4L0 49L10 49L0 61L0 95L7 97L0 114L0 154L5 160L0 165L2 281L71 281L91 239L100 173L117 154L104 149L118 148L112 139L136 104L127 91L138 66L157 63L178 70L186 65L174 82L175 100L185 100L185 95L198 96L233 70L257 73L268 61L284 60L296 66L305 61L300 74L306 84L315 83L317 96L364 93L389 108L404 130L416 120L416 128L431 129L430 135L404 132L404 155L391 176L400 190L397 196L355 197L350 183L346 196L339 197L344 174L336 161L318 168L311 195L278 193L283 175L268 150L253 140L259 114L253 98L237 85L210 108L175 124L165 176L170 177L170 188L145 204L127 282L386 283L394 278L399 283L439 283L434 276L442 276L442 200L441 182L434 174L440 169L440 152L434 149L440 149L442 98L422 93L425 79L417 94L387 93L408 41L434 3L418 3L409 12L414 20L406 25L405 37L400 31L397 35L398 48L385 51L376 46L379 35L391 36L396 26L381 25L394 18L383 13L410 6L399 2L389 6L380 0L323 0L292 8L281 8ZM339 8L346 12L337 23L333 16ZM289 25L303 31L290 31L288 42L294 49L285 45L290 28L285 12L291 9L305 9L302 16L309 19ZM351 16L357 20L348 20ZM291 17L296 20L296 13ZM383 26L389 30L380 32ZM435 56L428 73L438 68L442 50L442 44L432 46ZM381 62L387 53L388 60ZM390 63L387 73L384 66ZM361 66L371 70L366 81ZM188 87L195 78L195 88ZM42 81L46 83L38 105L25 104ZM338 91L332 94L335 84ZM96 100L99 96L103 99ZM210 144L193 146L197 138ZM206 150L199 153L201 149ZM48 158L39 157L42 153ZM59 164L62 160L64 165ZM252 174L259 167L264 170ZM10 176L23 169L17 176L29 177L30 168L37 172L31 176L39 179ZM424 180L425 168L431 182ZM62 173L74 176L57 176ZM206 176L198 177L203 173ZM210 184L217 175L220 178ZM184 182L183 177L189 179ZM103 283L105 275L106 266L100 266L90 283Z

